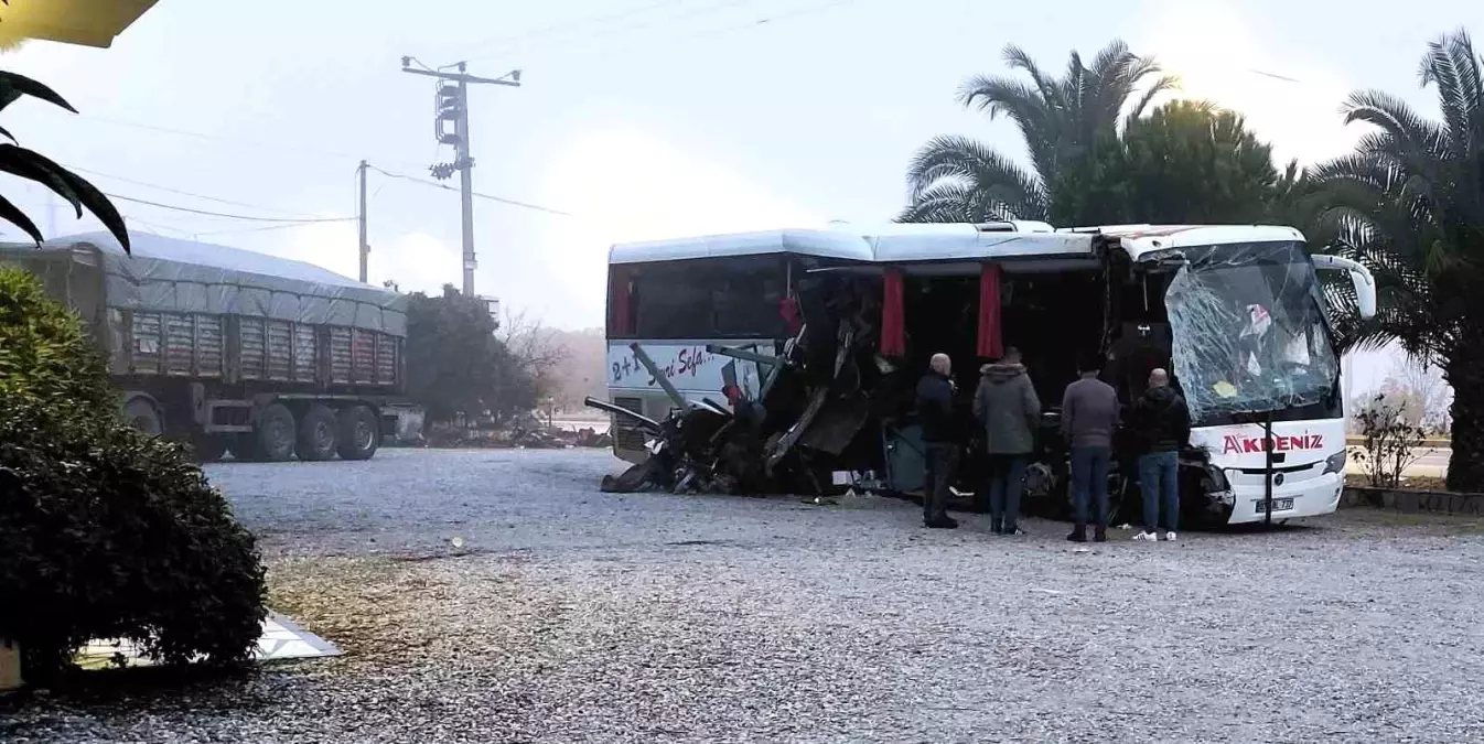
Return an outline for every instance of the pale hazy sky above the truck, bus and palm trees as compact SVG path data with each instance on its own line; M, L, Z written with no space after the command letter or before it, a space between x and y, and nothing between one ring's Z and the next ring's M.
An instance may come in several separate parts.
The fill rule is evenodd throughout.
M1005 70L1006 43L1060 73L1071 49L1091 56L1122 37L1183 76L1187 95L1245 111L1281 157L1316 160L1352 141L1337 116L1350 89L1435 111L1417 88L1425 43L1481 19L1484 6L1460 0L1405 12L1395 0L160 0L113 49L33 42L7 55L82 116L22 102L3 123L71 166L275 211L88 174L108 193L349 217L361 157L417 177L451 159L433 141L433 82L402 74L402 55L470 59L491 77L519 67L522 88L472 92L475 187L579 217L476 202L478 290L589 327L614 241L879 223L938 134L1022 157L1011 125L954 102L965 77ZM39 190L6 193L47 227ZM459 284L457 195L375 174L371 193L372 281ZM355 223L245 232L266 224L120 206L162 235L356 272ZM92 227L58 211L56 233Z

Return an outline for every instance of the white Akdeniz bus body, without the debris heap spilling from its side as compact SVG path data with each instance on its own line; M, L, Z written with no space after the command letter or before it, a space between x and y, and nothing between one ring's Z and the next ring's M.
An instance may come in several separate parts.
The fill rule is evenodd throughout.
M1303 235L1276 226L769 230L614 245L608 264L608 389L617 405L653 419L672 407L634 358L635 342L689 399L757 399L767 367L706 346L781 353L801 324L830 318L833 333L840 313L855 313L850 327L865 333L902 328L887 333L905 342L862 362L865 374L899 370L916 380L930 353L948 352L965 397L978 362L1000 345L1021 349L1048 407L1076 379L1076 359L1098 352L1125 402L1143 392L1150 368L1171 368L1192 413L1181 514L1224 523L1336 509L1346 459L1330 321L1339 310L1328 307L1316 269L1346 272L1358 312L1376 312L1374 279L1362 266L1310 257ZM877 401L873 426L862 429L874 460L859 468L880 466L892 490L913 492L922 465L911 416L883 407L890 402ZM616 419L614 453L643 460L644 434ZM1048 443L1039 454L1057 483L1064 453ZM972 448L966 457L965 490L974 490Z

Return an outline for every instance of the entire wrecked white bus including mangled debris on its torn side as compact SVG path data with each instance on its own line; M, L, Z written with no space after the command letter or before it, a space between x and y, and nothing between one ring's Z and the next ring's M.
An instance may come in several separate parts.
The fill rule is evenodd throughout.
M1046 411L1030 508L1066 506L1055 404L1086 353L1107 359L1125 404L1149 370L1174 370L1193 420L1187 514L1260 521L1339 500L1331 315L1374 313L1374 281L1352 261L1310 257L1290 227L779 230L616 245L608 263L611 401L588 405L613 414L614 453L635 463L604 480L608 492L919 493L913 389L945 352L960 398L959 489L972 496L984 466L969 410L978 362L1008 342ZM1316 269L1350 284L1322 285ZM1134 454L1116 448L1114 499Z

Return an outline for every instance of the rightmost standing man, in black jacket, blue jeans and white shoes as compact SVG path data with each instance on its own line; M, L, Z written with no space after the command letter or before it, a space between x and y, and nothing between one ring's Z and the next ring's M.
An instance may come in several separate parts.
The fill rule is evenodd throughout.
M1144 532L1134 539L1158 541L1156 530L1163 524L1165 539L1174 541L1180 524L1180 448L1190 440L1190 410L1169 386L1169 374L1155 370L1128 419L1140 446L1138 484L1144 496Z

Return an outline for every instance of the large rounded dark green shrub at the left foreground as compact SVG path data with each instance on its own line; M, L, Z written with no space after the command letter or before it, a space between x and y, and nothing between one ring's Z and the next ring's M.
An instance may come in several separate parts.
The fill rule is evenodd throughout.
M91 639L242 662L264 591L252 535L200 468L122 422L77 318L0 269L0 636L27 679L65 671Z

